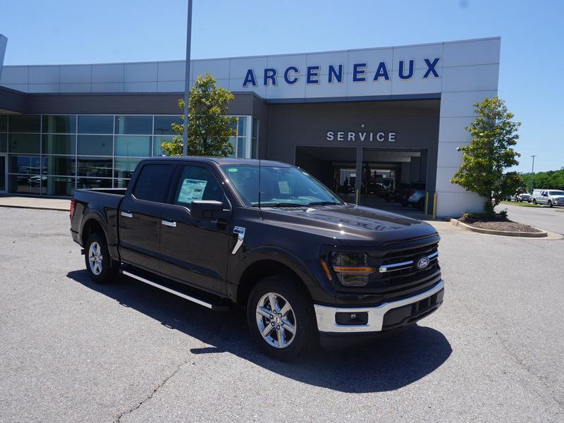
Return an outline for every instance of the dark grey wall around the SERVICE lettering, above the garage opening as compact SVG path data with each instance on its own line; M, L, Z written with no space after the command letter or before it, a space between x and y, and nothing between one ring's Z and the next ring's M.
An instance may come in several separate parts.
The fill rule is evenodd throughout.
M294 164L295 147L299 145L427 150L427 190L434 192L439 108L440 100L271 104L268 158ZM367 138L364 141L328 141L329 130L335 133L395 132L396 142L369 142Z

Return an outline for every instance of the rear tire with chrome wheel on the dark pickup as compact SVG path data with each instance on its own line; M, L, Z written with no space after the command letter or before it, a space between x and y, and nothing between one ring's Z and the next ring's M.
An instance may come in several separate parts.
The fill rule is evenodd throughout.
M110 257L104 235L92 233L85 244L85 264L90 279L95 283L109 283L117 274L117 262Z

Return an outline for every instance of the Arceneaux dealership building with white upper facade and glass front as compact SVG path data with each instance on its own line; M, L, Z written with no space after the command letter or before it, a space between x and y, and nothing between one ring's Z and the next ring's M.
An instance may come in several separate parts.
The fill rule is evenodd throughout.
M482 208L450 178L473 104L497 95L500 42L194 60L190 79L211 73L235 94L236 157L295 164L360 204L419 183L428 213L455 216ZM0 35L0 193L122 188L172 139L185 61L2 66L6 45Z

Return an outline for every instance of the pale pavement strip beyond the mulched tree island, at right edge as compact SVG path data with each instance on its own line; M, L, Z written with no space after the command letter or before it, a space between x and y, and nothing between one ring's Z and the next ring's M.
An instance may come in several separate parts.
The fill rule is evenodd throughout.
M564 235L564 207L524 207L503 203L498 210L507 209L508 218L525 225Z

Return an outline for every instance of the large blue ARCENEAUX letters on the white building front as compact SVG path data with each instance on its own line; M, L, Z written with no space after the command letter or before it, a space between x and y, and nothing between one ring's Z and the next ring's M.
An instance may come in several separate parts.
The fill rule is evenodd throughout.
M441 60L440 57L435 57L434 59L423 59L427 70L425 71L423 78L439 78L439 72L436 70L436 66ZM374 74L369 74L366 70L367 63L354 63L353 64L353 82L367 82L372 80L372 82L378 82L380 78L382 80L389 80L390 73L388 72L388 67L386 62L380 62L376 72ZM258 81L262 82L262 85L268 87L269 85L278 85L278 81L283 81L288 85L294 85L300 77L298 76L300 69L297 66L288 66L283 72L278 73L276 68L265 68L262 76ZM400 79L409 80L413 78L415 73L415 60L400 60L398 62L398 76ZM330 84L332 82L343 82L343 65L329 65L327 69L326 78L327 82ZM258 83L259 83L258 82ZM307 66L305 71L305 83L306 84L319 84L321 82L321 66ZM257 87L257 75L255 71L249 69L247 75L245 75L245 80L243 80L243 87L252 85Z

